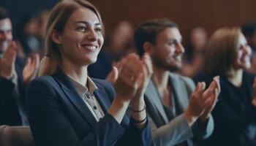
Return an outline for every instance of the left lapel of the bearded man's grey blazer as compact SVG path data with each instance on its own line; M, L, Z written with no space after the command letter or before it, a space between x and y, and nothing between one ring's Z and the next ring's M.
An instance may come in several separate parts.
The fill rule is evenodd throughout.
M168 123L168 119L165 115L165 110L162 105L162 101L160 100L159 93L157 92L157 88L155 88L154 83L151 80L148 82L148 88L146 89L145 94L148 97L148 100L151 101L152 104L154 104L159 112L159 115L161 115L165 123Z

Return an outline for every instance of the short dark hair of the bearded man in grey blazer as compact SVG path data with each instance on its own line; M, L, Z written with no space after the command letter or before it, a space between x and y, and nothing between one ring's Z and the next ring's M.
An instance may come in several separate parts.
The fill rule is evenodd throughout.
M154 19L141 23L135 30L135 46L140 56L144 54L143 44L150 42L155 45L157 42L157 35L164 31L165 28L178 28L176 23L173 23L169 19Z

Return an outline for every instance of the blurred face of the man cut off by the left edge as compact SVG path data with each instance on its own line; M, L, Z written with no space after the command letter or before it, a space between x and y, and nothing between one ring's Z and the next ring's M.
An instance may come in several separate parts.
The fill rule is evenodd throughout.
M0 20L0 53L4 53L12 41L12 23L10 18Z

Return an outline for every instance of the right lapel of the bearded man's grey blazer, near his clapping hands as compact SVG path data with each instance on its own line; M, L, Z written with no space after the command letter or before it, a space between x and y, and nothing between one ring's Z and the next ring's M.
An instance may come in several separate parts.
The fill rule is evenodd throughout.
M173 86L173 93L176 106L178 106L178 112L181 114L181 112L187 109L189 103L187 91L184 90L186 87L184 87L184 82L181 82L177 74L170 73L170 82Z

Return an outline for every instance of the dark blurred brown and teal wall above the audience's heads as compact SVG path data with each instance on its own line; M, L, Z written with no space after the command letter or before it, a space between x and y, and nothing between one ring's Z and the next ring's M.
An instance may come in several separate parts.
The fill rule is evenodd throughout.
M89 0L102 14L107 32L120 20L133 26L151 18L170 18L184 34L192 26L202 26L209 34L222 26L240 26L256 20L255 0ZM27 15L51 9L58 0L0 0L12 15L17 28Z

